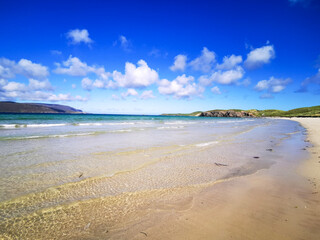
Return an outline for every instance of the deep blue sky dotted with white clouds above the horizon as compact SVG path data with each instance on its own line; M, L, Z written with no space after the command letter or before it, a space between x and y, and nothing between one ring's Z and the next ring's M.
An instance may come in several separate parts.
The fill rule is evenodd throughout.
M161 114L320 105L320 1L0 0L0 101Z

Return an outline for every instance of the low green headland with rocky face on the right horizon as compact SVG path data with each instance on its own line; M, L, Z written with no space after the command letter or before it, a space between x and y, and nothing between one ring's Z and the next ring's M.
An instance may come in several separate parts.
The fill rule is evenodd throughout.
M210 111L197 111L189 114L162 114L166 116L197 116L197 117L320 117L320 106L295 108L289 111L276 109L267 110L241 110L241 109L216 109Z

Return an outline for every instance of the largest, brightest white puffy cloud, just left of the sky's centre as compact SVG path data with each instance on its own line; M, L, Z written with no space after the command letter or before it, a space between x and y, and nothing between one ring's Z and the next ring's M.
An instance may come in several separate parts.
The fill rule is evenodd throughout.
M151 69L144 60L139 60L137 66L126 62L125 73L113 71L113 82L110 85L126 88L147 87L159 80L157 71Z

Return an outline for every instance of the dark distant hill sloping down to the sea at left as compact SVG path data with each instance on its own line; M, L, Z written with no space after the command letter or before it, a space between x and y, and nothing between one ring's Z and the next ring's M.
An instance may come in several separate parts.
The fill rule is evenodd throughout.
M0 102L0 113L83 113L65 105L46 103Z

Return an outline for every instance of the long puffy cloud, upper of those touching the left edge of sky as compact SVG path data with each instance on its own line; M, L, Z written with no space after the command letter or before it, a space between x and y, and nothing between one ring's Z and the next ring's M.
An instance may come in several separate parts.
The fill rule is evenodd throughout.
M48 68L28 59L20 59L19 62L7 58L0 59L0 77L4 79L14 78L21 74L26 78L45 79L49 75Z

